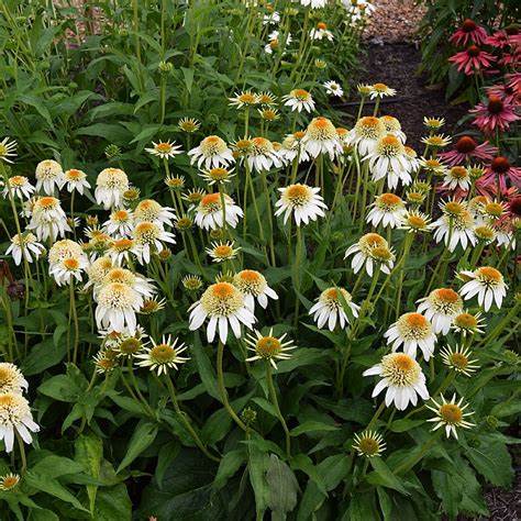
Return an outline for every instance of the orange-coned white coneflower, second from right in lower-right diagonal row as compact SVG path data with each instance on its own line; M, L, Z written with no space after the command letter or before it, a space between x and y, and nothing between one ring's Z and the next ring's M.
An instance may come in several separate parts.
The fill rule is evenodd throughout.
M434 289L429 297L418 302L418 312L425 314L436 334L447 334L454 318L463 312L462 297L451 288Z

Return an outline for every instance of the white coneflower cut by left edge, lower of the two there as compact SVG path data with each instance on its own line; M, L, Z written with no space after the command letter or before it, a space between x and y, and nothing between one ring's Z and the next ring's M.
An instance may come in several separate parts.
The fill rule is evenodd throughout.
M5 452L12 452L15 434L25 443L32 443L30 431L38 432L40 426L33 420L29 401L18 392L0 395L0 440L3 440Z

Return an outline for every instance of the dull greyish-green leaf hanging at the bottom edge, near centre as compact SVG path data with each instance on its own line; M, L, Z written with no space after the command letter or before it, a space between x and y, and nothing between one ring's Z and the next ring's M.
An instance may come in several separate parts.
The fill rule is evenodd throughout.
M286 519L286 514L297 505L299 491L297 478L291 468L275 454L269 456L266 478L269 487L268 507L273 510L275 519Z

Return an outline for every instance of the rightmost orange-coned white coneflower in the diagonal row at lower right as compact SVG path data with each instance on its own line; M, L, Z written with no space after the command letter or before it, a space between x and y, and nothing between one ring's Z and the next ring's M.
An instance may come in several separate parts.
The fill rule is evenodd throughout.
M465 300L477 296L479 306L485 311L492 307L496 301L498 308L501 308L503 298L507 295L508 286L505 284L503 276L496 268L483 266L474 271L459 271L459 277L468 280L459 292Z

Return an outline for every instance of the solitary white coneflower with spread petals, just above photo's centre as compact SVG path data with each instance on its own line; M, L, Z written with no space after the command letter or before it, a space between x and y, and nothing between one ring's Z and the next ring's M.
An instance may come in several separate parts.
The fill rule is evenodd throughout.
M284 213L284 223L288 222L291 213L295 217L297 226L301 223L308 224L315 221L318 217L324 217L324 210L328 207L322 196L319 196L320 188L312 188L308 185L290 185L286 188L279 188L280 199L275 203L277 211L275 215Z

